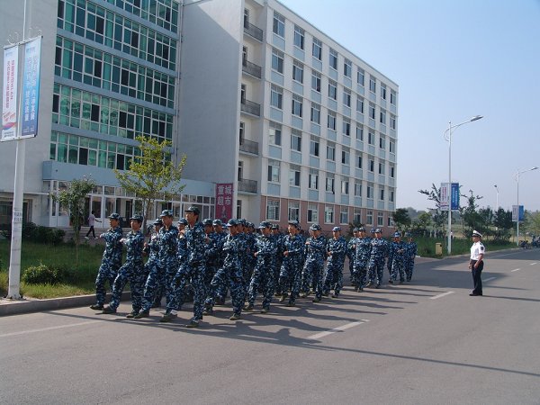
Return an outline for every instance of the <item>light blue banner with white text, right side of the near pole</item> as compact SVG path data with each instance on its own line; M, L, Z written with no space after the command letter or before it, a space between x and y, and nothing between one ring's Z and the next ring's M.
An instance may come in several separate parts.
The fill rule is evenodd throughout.
M24 45L23 68L23 116L21 137L31 138L38 134L38 110L40 106L40 58L41 38Z

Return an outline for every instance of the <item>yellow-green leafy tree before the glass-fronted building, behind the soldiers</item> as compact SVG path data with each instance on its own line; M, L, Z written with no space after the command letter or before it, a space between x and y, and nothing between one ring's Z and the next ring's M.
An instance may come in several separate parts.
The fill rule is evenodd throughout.
M116 178L124 190L134 193L139 199L143 212L143 229L157 198L164 200L178 199L184 189L180 184L184 169L185 155L178 165L171 161L172 142L152 139L144 136L135 138L139 141L136 157L130 161L126 171L114 170Z

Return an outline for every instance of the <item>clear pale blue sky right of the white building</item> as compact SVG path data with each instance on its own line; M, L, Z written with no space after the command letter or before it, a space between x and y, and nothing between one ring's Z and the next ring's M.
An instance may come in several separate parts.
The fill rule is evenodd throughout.
M433 208L419 189L452 180L510 210L518 171L540 166L540 0L280 0L400 85L397 208ZM497 188L495 188L497 184ZM462 198L462 204L464 199ZM540 169L519 176L540 210Z

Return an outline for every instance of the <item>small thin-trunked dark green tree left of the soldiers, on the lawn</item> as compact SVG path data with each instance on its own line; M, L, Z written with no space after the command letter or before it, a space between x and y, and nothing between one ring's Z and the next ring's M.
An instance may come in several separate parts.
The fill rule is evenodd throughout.
M85 199L95 187L94 180L83 177L82 179L75 179L68 183L67 188L58 192L58 194L51 194L52 199L55 202L59 202L60 205L67 208L69 211L69 217L71 219L71 227L75 232L75 266L78 268L78 251L80 244L80 231L81 226L85 220Z

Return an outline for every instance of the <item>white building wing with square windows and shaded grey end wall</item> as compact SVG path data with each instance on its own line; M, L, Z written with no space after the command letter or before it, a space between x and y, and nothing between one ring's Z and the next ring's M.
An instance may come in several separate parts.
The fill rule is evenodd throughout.
M275 0L186 1L186 175L236 216L392 225L398 85Z

